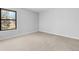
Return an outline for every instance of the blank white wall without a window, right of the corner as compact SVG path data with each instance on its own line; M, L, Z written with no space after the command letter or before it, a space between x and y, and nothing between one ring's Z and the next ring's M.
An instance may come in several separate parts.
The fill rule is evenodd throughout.
M39 31L79 39L79 9L52 8L40 13Z

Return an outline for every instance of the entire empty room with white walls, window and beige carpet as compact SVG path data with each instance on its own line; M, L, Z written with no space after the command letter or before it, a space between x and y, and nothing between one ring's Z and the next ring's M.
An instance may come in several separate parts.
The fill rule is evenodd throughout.
M79 51L79 8L0 8L0 51Z

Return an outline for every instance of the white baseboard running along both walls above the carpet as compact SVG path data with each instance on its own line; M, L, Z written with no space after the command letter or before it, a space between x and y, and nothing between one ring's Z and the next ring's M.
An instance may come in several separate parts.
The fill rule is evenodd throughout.
M38 31L32 31L32 32L28 32L28 33L21 33L21 34L9 36L9 37L4 37L4 38L0 38L0 40L11 39L11 38L15 38L15 37L18 37L18 36L28 35L28 34L31 34L31 33L34 33L34 32L38 32ZM48 34L53 34L53 35L58 35L58 36L63 36L63 37L79 40L79 37L73 37L73 36L69 36L69 35L62 35L62 34L57 34L57 33L51 33L51 32L47 32L47 31L39 31L39 32L45 32L45 33L48 33Z

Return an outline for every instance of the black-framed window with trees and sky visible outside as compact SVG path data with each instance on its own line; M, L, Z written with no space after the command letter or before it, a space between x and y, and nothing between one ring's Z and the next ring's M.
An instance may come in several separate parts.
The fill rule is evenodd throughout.
M16 11L0 8L0 30L16 29Z

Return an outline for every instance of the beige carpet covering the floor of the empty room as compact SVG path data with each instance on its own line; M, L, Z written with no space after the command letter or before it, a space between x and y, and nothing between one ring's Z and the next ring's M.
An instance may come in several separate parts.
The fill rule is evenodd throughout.
M79 40L42 32L0 41L6 51L78 51Z

